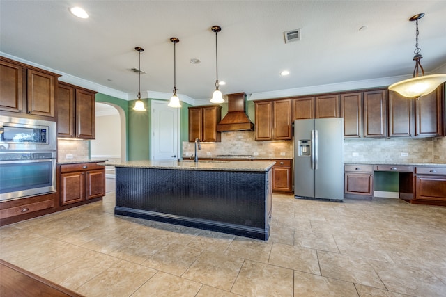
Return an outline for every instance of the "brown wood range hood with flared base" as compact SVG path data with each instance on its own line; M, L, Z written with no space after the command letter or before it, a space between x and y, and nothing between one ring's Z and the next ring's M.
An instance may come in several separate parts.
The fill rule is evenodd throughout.
M254 124L245 113L245 93L227 94L228 113L217 124L217 131L254 131Z

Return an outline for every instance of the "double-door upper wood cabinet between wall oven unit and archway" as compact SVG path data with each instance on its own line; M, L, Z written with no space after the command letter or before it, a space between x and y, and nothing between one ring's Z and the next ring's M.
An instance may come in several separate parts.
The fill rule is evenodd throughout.
M57 135L95 139L95 92L59 82Z

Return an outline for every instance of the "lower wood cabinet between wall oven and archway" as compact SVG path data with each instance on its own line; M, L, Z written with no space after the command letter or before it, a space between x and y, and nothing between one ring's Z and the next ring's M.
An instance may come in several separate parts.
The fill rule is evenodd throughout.
M75 163L60 166L61 206L105 195L105 166Z

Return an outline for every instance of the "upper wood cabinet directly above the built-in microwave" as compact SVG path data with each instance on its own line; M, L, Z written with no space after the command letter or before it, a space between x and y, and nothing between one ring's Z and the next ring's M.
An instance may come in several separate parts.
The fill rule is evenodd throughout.
M54 120L59 74L0 57L0 110Z

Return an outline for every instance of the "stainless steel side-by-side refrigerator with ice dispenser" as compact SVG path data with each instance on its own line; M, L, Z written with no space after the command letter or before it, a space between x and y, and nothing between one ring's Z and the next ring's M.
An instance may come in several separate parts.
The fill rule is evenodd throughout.
M344 119L294 121L295 198L344 200Z

